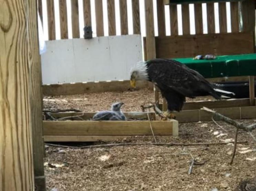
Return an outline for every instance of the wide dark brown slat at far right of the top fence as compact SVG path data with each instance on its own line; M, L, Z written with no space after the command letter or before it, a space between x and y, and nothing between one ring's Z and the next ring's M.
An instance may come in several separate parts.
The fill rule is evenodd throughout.
M243 31L255 31L255 1L242 1Z

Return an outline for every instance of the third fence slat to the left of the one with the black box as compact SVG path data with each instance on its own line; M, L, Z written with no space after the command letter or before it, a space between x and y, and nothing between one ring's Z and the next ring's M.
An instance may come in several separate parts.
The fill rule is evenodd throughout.
M47 17L48 17L48 36L49 40L56 39L55 33L55 16L54 16L54 1L47 0Z

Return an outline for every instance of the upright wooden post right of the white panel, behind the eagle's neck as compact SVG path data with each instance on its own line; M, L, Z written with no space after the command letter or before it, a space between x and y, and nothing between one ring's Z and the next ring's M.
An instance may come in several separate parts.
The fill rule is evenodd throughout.
M156 58L156 42L154 36L154 13L153 13L153 1L145 1L145 16L146 16L146 52L147 60ZM158 91L154 86L155 101L159 103ZM157 99L157 100L156 100Z

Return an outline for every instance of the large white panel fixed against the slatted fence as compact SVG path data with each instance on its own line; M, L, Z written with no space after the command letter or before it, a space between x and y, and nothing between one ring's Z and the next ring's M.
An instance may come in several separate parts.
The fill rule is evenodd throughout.
M46 41L41 55L43 84L129 80L142 60L140 35Z

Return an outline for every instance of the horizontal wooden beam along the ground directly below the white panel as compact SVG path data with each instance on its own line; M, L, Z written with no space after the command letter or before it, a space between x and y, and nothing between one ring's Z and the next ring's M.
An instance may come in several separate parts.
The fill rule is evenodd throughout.
M138 90L148 87L147 81L138 81L136 88L130 86L129 80L124 81L100 81L87 83L63 83L43 85L44 95L74 95L81 93L97 93L106 91L127 91L129 89Z

